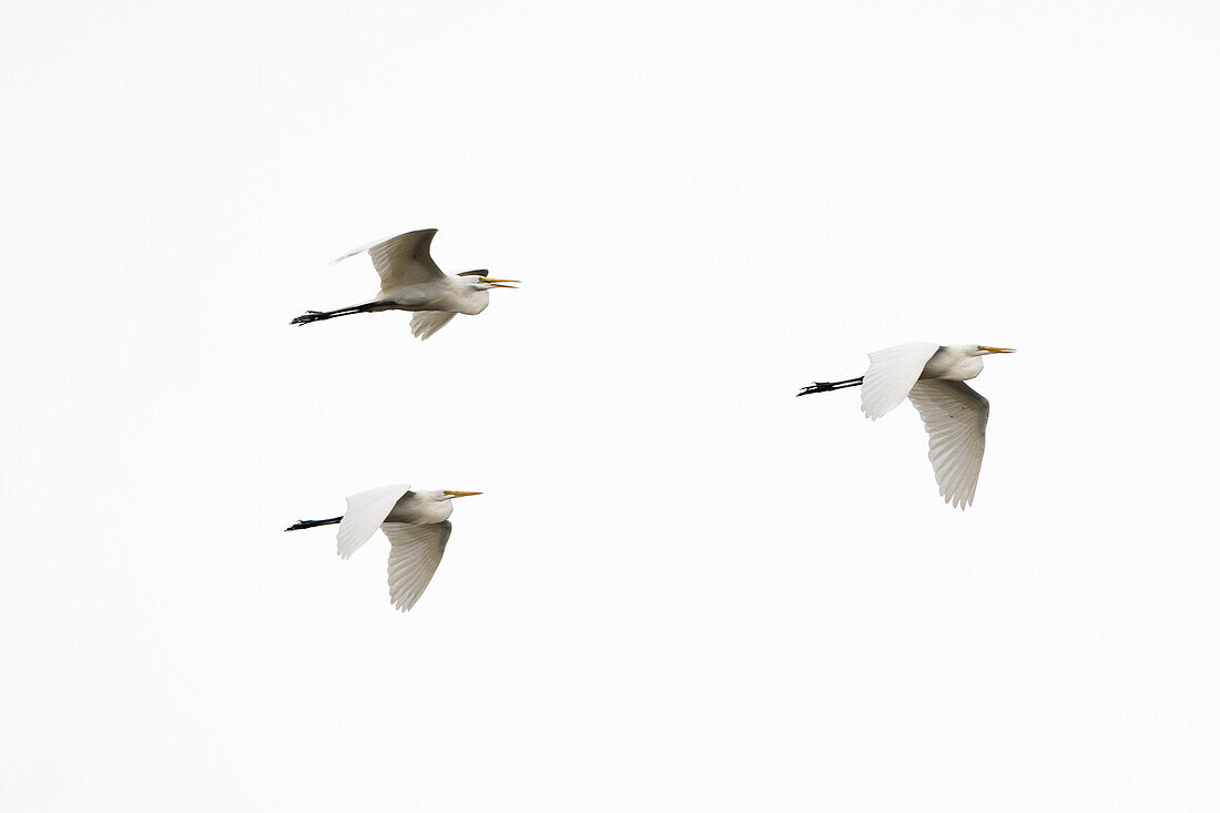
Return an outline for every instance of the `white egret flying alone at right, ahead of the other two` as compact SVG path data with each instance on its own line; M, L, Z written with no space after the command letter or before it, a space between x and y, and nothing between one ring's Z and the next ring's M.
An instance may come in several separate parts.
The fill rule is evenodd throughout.
M975 499L983 463L987 399L967 387L983 371L982 356L1015 353L1006 347L911 342L869 354L869 371L847 381L814 382L797 393L831 392L860 387L860 409L877 420L904 398L924 419L928 460L944 502L965 510Z

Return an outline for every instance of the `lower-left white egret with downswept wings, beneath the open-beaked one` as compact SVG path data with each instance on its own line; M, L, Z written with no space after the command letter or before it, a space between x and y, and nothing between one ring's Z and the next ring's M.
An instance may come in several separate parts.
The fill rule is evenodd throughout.
M344 559L372 538L377 529L389 540L389 599L404 613L420 601L440 564L453 525L453 499L481 491L411 491L382 486L348 497L348 511L327 520L299 520L285 531L339 525L339 555Z

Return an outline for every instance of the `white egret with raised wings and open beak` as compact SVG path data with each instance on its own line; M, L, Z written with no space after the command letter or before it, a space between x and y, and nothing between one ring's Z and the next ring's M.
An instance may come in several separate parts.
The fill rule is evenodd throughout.
M483 313L490 302L487 293L492 288L516 288L506 284L520 280L495 280L484 276L487 270L462 271L455 276L444 273L432 260L429 249L437 229L423 228L392 237L381 243L354 248L334 260L345 260L368 251L381 292L368 302L338 310L310 310L292 321L309 325L323 319L371 314L378 310L412 310L411 333L426 339L449 323L455 314L475 316Z

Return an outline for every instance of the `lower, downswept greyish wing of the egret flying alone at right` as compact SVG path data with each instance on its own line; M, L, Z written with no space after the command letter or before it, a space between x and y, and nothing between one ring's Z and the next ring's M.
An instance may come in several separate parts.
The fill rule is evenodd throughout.
M963 381L920 381L910 397L927 430L927 459L941 496L965 510L975 500L991 405Z

